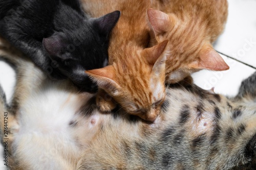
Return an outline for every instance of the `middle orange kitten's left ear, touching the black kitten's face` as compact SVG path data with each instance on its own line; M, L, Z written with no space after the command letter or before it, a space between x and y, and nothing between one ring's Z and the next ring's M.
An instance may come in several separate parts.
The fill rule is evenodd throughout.
M97 85L107 92L114 92L120 86L116 83L115 69L112 65L85 71Z

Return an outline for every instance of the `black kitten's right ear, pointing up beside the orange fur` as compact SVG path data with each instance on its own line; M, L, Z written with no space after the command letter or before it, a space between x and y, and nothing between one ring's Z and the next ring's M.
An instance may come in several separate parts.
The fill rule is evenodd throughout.
M95 19L94 24L98 28L100 34L108 36L110 31L115 27L120 17L120 11L114 11Z

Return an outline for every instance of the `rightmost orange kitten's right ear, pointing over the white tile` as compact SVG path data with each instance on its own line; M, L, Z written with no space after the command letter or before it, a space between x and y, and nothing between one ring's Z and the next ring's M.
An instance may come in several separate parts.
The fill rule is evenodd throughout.
M189 64L192 68L209 70L227 70L229 66L223 58L210 45L204 47L199 53L199 60Z

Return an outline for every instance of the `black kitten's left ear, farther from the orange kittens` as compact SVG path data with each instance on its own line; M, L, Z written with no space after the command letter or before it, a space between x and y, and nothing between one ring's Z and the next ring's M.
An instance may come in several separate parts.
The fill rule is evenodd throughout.
M64 44L61 42L60 36L54 35L48 38L43 38L42 45L51 56L60 57Z

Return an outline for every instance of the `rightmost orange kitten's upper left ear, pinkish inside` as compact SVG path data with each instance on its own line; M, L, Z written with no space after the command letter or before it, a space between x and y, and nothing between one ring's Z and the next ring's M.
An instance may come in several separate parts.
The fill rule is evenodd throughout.
M147 17L156 36L169 31L170 26L174 25L171 22L174 22L175 18L152 8L147 9Z

